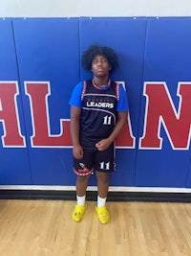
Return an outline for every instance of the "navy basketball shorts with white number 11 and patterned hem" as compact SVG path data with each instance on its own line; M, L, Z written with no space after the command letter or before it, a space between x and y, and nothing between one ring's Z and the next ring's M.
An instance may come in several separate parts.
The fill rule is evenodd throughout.
M116 170L114 143L105 151L83 150L83 158L74 158L74 173L76 175L90 175L94 170L103 173L111 173Z

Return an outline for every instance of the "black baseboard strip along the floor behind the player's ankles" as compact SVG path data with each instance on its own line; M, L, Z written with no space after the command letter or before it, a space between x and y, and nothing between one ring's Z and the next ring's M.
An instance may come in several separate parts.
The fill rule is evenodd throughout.
M87 200L96 201L96 191L87 191ZM75 200L75 191L0 190L0 199ZM109 192L108 201L191 202L191 193Z

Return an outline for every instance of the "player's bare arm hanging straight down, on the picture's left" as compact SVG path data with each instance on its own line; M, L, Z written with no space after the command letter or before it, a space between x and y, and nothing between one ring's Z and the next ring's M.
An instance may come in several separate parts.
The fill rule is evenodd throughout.
M83 149L79 143L79 116L81 107L71 105L71 135L73 140L74 157L80 159L83 157Z

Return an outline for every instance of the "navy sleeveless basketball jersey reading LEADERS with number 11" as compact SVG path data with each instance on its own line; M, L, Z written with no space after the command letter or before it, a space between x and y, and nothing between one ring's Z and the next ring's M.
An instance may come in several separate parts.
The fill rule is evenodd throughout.
M93 80L83 82L80 115L80 143L95 146L100 139L110 136L117 123L118 83L109 81L104 88Z

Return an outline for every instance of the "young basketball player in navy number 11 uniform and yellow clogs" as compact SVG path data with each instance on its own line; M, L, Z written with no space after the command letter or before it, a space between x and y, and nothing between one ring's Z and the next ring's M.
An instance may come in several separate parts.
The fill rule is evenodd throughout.
M109 174L115 171L115 140L127 122L128 102L122 85L110 80L117 68L117 55L107 46L93 45L84 52L82 66L93 73L90 81L74 88L71 105L76 200L73 220L81 221L86 210L86 189L96 170L96 213L101 223L110 221L105 206Z

